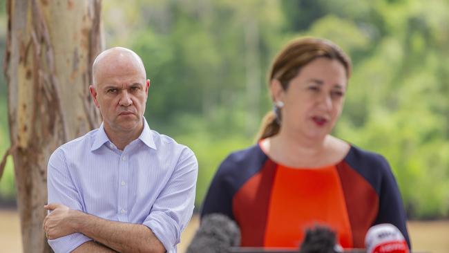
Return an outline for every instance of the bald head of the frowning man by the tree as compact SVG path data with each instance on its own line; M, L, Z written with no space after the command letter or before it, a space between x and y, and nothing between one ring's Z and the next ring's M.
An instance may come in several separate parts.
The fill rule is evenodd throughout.
M150 86L142 59L127 48L110 48L97 56L92 68L89 90L106 133L140 132Z

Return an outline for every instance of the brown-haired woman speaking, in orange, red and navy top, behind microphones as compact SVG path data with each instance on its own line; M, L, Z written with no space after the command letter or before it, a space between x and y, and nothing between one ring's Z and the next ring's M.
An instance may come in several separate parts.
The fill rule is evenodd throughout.
M383 156L330 133L343 110L349 57L325 39L302 38L278 53L269 73L274 110L258 143L220 165L201 216L225 214L242 247L295 247L305 229L325 225L344 248L363 247L367 230L391 223L408 241L397 183Z

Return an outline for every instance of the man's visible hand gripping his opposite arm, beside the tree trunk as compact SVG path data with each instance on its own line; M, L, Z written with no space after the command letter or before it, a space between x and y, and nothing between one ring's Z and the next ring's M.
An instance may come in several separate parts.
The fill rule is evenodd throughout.
M70 222L76 211L58 203L44 205L44 208L51 211L44 219L44 230L48 239L52 240L76 232L75 224Z

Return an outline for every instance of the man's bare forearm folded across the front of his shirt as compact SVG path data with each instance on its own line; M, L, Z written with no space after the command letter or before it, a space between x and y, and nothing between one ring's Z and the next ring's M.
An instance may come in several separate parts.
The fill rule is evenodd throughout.
M145 225L108 221L83 212L75 212L77 232L117 252L165 252L164 245Z

